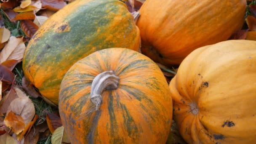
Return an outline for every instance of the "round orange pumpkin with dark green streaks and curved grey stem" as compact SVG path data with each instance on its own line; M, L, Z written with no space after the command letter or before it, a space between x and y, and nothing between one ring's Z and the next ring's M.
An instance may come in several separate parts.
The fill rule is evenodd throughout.
M68 70L59 113L72 144L165 144L172 99L151 59L127 48L108 48Z

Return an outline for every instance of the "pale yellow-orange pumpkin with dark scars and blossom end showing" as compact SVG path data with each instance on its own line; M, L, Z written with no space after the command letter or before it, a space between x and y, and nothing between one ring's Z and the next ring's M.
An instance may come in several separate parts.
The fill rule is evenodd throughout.
M189 144L256 143L256 41L196 49L169 88L174 120Z

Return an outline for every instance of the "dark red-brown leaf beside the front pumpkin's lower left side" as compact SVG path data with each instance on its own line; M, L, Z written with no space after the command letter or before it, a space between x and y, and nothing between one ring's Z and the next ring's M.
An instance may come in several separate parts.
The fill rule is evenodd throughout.
M51 133L53 133L56 128L59 128L60 126L62 126L61 118L55 114L48 113L46 115L46 121Z

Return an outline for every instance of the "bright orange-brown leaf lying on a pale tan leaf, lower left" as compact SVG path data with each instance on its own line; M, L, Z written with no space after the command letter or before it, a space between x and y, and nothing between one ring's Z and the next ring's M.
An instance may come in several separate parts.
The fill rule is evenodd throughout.
M4 123L11 128L14 133L19 134L25 128L25 123L20 115L16 115L15 112L10 111L5 117ZM9 143L10 144L10 143Z

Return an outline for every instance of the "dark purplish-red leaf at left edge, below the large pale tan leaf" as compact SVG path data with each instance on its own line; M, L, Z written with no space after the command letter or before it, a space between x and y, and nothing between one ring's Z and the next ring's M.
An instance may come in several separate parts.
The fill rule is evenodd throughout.
M14 80L14 75L11 70L8 69L8 67L3 66L2 64L0 64L0 79L8 83L12 83Z

